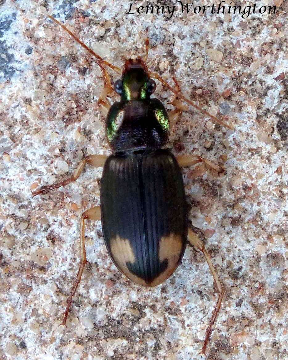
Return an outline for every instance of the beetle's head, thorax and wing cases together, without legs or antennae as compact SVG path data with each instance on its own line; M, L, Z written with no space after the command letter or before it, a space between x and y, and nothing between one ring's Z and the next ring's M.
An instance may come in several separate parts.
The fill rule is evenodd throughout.
M166 280L179 265L187 237L187 211L180 168L170 150L169 119L145 64L126 61L115 84L121 101L106 119L114 154L101 180L105 244L123 274L144 286Z

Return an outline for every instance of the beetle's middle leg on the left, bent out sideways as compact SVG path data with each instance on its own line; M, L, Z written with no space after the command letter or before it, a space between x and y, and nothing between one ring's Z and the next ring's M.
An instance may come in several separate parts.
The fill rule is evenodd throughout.
M48 193L48 191L53 190L53 189L57 189L60 188L60 186L65 186L68 185L70 183L72 183L73 181L76 181L78 179L78 177L80 176L81 172L84 169L84 166L86 163L95 166L95 167L103 167L104 163L107 159L106 155L89 155L86 156L78 165L78 167L76 168L74 174L69 177L66 180L61 181L60 183L56 183L56 184L52 184L52 185L44 185L41 186L41 188L39 190L36 191L32 191L32 196L36 196L39 194L46 194Z

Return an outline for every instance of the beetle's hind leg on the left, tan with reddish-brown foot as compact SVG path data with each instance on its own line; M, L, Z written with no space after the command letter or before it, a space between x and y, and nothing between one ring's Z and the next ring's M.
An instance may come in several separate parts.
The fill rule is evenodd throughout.
M67 299L67 306L64 312L64 318L60 325L66 325L69 309L72 305L73 296L75 295L75 292L77 290L78 285L81 281L81 276L84 270L85 265L87 264L87 258L86 258L86 249L85 249L85 220L101 220L101 214L100 214L100 206L92 207L89 210L84 211L81 215L81 222L80 222L80 247L81 247L81 262L79 265L79 270L77 273L76 282L71 290L71 294ZM59 326L60 326L59 325Z

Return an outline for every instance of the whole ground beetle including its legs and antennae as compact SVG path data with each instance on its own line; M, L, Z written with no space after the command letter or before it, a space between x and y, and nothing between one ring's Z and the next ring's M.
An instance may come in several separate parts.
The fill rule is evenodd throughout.
M222 167L200 156L175 158L169 149L163 147L169 138L171 121L175 122L183 110L182 100L210 116L212 121L230 129L233 126L187 99L181 93L175 77L173 80L176 89L157 73L148 71L145 65L148 40L145 41L146 55L126 60L121 71L89 49L63 24L52 16L47 16L96 57L104 79L104 89L98 104L106 114L106 135L113 152L108 158L103 155L87 156L71 178L54 185L42 186L32 192L33 196L45 194L51 189L75 181L86 163L104 167L100 189L101 205L86 210L81 216L81 263L67 300L62 324L66 324L72 298L87 263L85 220L101 220L103 237L112 261L124 275L140 285L156 286L169 278L181 262L187 240L203 252L219 292L203 342L202 353L205 354L224 290L204 243L188 228L188 209L180 167L198 162L203 162L207 168L218 172L222 171ZM122 73L121 79L114 83L114 91L121 95L121 100L112 106L106 101L107 95L113 91L106 66ZM159 100L150 98L156 89L152 78L161 81L175 95L172 104L176 108L169 114Z

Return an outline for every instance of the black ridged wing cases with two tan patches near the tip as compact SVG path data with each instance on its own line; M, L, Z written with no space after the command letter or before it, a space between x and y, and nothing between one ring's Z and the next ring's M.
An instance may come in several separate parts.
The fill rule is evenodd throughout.
M166 280L186 248L186 202L180 168L169 150L110 156L101 183L106 247L123 274L144 286Z

